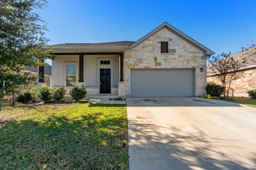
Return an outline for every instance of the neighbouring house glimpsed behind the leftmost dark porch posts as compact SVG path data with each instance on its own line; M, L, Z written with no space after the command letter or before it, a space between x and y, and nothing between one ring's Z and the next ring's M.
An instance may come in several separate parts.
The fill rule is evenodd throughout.
M35 75L36 77L38 77L38 66L31 68L31 67L26 67L25 71L30 72L32 75ZM51 76L52 76L52 66L45 63L44 66L44 82L46 84L46 86L51 86Z

